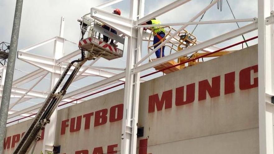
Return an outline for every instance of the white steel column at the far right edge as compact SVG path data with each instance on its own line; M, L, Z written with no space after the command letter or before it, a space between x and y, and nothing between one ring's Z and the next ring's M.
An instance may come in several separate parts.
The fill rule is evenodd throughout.
M273 96L273 25L265 18L273 9L273 0L258 0L258 78L259 78L259 146L260 154L273 154L272 113L266 111L267 100Z

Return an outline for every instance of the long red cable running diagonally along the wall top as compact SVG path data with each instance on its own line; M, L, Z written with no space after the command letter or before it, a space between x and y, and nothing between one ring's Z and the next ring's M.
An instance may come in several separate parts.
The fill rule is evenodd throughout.
M161 70L158 70L158 71L156 71L156 72L149 73L149 74L147 74L147 75L143 75L143 76L141 76L140 78L148 77L148 76L153 75L153 74L156 74L156 73L158 73L158 72L162 72L162 71L164 71L164 70L167 70L167 69L170 69L170 68L174 68L174 67L176 67L176 66L179 66L179 65L182 65L182 64L191 62L191 61L193 61L193 60L197 60L197 59L200 59L200 58L209 56L209 55L211 55L211 54L215 54L215 53L217 53L217 52L223 51L223 50L225 50L225 49L229 49L229 48L231 48L231 47L234 47L234 46L239 45L239 44L243 44L243 43L248 42L248 41L251 41L251 40L255 40L255 39L257 39L257 38L258 38L258 36L252 37L252 38L250 38L250 39L241 41L241 42L236 43L236 44L229 45L229 46L227 46L227 47L224 47L224 48L222 48L222 49L216 50L216 51L214 51L214 52L205 54L205 55L203 55L203 56L200 56L200 57L197 57L197 58L194 58L194 59L189 59L189 60L187 60L187 61L185 61L185 62L178 63L178 64L176 64L176 65L173 65L173 66L170 66L170 67L167 67L167 68L163 68L163 69L161 69ZM86 98L86 97L89 97L89 96L92 96L92 95L95 95L95 94L98 94L98 93L103 92L103 91L107 91L107 90L109 90L109 89L112 89L112 88L115 88L115 87L117 87L117 86L121 86L121 85L124 85L124 84L125 84L125 83L120 83L120 84L118 84L118 85L111 86L111 87L106 88L106 89L103 89L103 90L101 90L101 91L97 91L97 92L92 93L92 94L89 94L89 95L87 95L87 96L83 96L83 97L81 97L81 98L77 98L77 99L72 100L72 101L69 101L69 102L67 102L67 103L58 105L58 107L59 107L59 106L66 105L66 104L69 104L69 103L72 103L72 102L74 102L74 101L77 101L77 100L80 100L80 99L83 99L83 98ZM36 113L35 113L35 114L36 114ZM22 120L22 119L31 117L31 116L33 116L33 115L35 115L35 114L31 114L31 115L29 115L29 116L26 116L26 117L23 117L23 118L20 118L20 119L17 119L17 120L13 120L13 121L11 121L11 122L8 122L7 124L10 124L10 123L16 122L16 121L18 121L18 120Z

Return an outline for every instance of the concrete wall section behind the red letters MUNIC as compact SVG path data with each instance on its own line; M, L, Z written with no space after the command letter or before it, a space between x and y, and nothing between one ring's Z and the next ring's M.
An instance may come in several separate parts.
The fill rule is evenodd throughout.
M257 154L258 88L239 88L239 72L256 65L257 46L253 46L142 84L138 124L139 127L145 128L144 138L148 139L147 153ZM230 72L235 72L235 92L225 95L225 74ZM208 80L212 85L211 79L218 76L220 96L213 93L213 98L210 98L207 92L206 99L199 101L203 94L199 91L202 89L199 82ZM228 84L233 80L230 76L233 75L226 78ZM254 77L257 77L257 73L251 71L249 79L252 78L252 82ZM215 83L218 82L216 78L214 80ZM195 100L176 106L176 98L179 100L179 96L186 95L178 92L176 96L176 88L186 88L193 83ZM164 99L163 92L170 90L172 106L165 106L167 101L170 101L165 94L167 99L163 109L157 110L155 107L155 111L149 113L149 97L158 94L158 99L161 100L161 97Z

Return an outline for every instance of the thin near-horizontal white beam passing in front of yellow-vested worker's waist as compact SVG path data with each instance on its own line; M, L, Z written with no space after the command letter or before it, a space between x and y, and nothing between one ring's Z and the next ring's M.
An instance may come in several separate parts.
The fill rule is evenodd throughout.
M231 20L215 20L215 21L181 22L181 23L168 23L168 24L155 24L155 25L138 25L138 27L204 25L204 24L223 24L223 23L234 23L234 22L254 22L254 18L231 19Z

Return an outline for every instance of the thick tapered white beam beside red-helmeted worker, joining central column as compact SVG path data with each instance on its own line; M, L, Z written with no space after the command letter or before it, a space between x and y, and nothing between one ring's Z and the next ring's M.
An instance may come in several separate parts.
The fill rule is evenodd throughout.
M131 36L132 19L106 12L98 8L91 8L91 17L114 28L123 35ZM136 25L137 26L137 25ZM136 37L136 36L135 36Z

